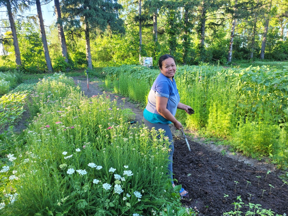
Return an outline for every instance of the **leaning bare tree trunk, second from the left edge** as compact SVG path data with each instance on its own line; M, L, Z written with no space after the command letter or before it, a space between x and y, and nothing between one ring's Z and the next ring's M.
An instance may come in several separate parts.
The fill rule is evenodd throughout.
M41 34L41 39L43 43L43 50L44 50L44 55L46 59L46 64L48 71L52 72L53 67L51 63L51 58L48 50L48 44L47 44L47 39L46 39L46 33L45 33L45 28L44 28L44 22L43 22L43 16L42 16L42 11L41 11L41 4L40 0L36 0L36 7L37 7L37 14L38 14L38 19L39 19L39 26L40 26L40 34Z

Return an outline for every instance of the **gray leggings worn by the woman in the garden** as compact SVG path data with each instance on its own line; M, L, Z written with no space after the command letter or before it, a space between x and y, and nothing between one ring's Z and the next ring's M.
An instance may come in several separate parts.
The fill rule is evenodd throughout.
M169 124L161 124L161 123L151 123L151 122L148 122L145 118L144 118L144 123L145 125L151 130L153 127L155 127L155 130L158 130L158 129L163 129L165 130L165 133L164 135L165 136L168 136L169 138L169 142L171 143L169 145L169 148L171 148L172 151L169 152L169 156L168 156L168 159L170 160L169 164L168 164L168 174L170 175L170 178L171 178L171 183L174 184L174 181L173 181L173 172L172 172L172 163L173 163L173 152L174 152L174 145L173 145L173 139L172 139L172 133L171 133L171 130L169 128Z

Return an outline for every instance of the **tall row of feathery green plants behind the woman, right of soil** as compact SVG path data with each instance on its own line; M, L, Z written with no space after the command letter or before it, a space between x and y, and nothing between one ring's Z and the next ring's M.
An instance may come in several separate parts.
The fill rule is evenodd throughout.
M287 163L285 137L288 107L288 71L266 66L233 69L212 66L178 67L175 81L183 110L177 119L207 136L225 138L252 157L274 158L281 168ZM107 88L135 101L147 103L150 86L159 74L140 66L107 67ZM282 137L280 139L280 137Z

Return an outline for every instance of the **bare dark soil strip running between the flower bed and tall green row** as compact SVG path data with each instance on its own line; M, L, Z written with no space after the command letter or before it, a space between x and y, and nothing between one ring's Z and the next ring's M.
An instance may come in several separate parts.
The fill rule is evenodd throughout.
M85 77L73 78L76 83L81 83L82 91L88 97L103 94L99 82L90 82L90 92L87 92ZM110 94L111 98L115 96ZM122 101L118 101L120 105ZM126 100L124 108L132 109L139 122L143 120L143 110L135 104ZM189 191L191 199L183 201L183 204L189 207L197 206L199 215L222 215L223 212L234 210L231 203L239 202L236 198L241 196L245 204L261 204L263 208L271 209L275 213L288 214L288 185L283 185L278 177L283 172L276 170L274 165L229 151L223 156L221 151L227 150L227 147L196 142L192 137L188 137L192 149L189 152L180 132L173 126L170 128L175 140L173 173L177 184L182 184L182 187ZM267 170L272 172L266 178ZM228 197L224 198L224 194ZM242 212L247 210L248 206L241 209Z

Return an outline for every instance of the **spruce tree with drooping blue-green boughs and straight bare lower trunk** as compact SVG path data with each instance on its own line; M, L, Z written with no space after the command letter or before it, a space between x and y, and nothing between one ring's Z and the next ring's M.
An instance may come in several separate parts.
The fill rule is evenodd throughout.
M65 0L61 4L65 31L70 35L85 33L86 60L92 69L90 33L103 33L108 26L111 33L124 33L118 13L122 5L113 0Z

